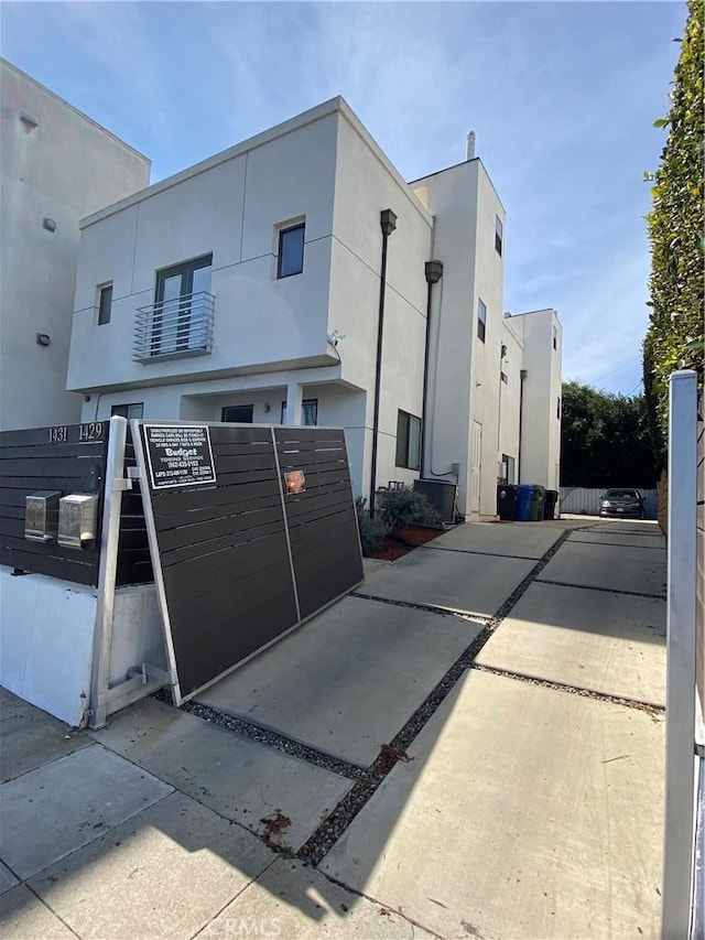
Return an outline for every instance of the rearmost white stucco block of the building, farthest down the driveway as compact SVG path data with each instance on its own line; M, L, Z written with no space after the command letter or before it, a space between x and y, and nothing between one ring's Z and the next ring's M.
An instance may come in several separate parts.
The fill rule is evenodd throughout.
M561 488L561 419L563 328L554 310L514 314L512 328L524 342L524 381L520 483ZM556 348L553 348L553 329Z

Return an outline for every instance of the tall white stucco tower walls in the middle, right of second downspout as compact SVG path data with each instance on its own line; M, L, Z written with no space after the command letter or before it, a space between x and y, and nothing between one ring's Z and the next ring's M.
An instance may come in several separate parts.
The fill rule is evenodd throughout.
M458 509L469 516L473 421L482 425L478 512L497 506L499 359L502 337L503 256L495 250L496 216L505 210L478 159L412 184L435 220L433 258L443 262L432 309L427 468L453 479L459 464ZM477 309L487 306L485 343Z

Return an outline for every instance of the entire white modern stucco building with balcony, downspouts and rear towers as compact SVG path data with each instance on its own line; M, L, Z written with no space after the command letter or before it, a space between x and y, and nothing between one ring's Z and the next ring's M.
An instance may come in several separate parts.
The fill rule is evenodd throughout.
M522 479L557 488L557 443L529 461L544 443L524 425L535 385L532 426L560 430L561 347L543 315L502 315L503 237L471 152L408 184L334 98L82 222L67 387L84 421L341 425L369 496L381 293L376 485L423 469L457 480L460 514L492 517L520 433Z

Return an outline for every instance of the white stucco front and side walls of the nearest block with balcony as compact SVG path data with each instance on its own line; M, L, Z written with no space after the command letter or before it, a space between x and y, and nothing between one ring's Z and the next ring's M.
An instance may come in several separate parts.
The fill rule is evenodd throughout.
M90 397L84 420L142 402L145 418L219 421L224 406L252 403L254 422L276 424L281 401L301 387L318 398L319 425L346 429L355 493L367 495L384 208L398 228L378 485L411 483L416 472L394 466L397 411L422 411L432 219L340 99L85 220L69 367L70 387ZM278 280L275 226L301 217L304 270ZM156 270L210 252L213 353L133 363L134 312L153 302ZM111 320L98 326L97 285L110 280ZM337 350L333 329L345 334Z

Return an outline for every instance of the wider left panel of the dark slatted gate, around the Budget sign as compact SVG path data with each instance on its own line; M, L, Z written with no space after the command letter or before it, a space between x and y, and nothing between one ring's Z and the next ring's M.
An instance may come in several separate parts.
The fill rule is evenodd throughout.
M164 489L153 477L142 483L177 704L299 620L271 429L206 430L215 483ZM148 433L149 422L140 425L142 447Z

